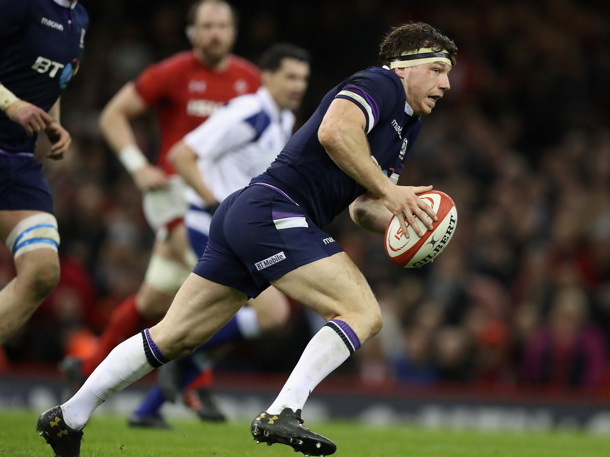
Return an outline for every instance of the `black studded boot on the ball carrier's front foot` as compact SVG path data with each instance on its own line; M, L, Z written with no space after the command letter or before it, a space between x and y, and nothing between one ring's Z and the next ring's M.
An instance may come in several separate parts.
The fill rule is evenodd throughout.
M320 434L314 433L304 427L301 419L301 410L296 412L290 408L284 408L279 415L266 412L252 421L250 431L256 443L266 442L287 444L294 448L295 452L302 452L306 456L326 456L334 454L337 446Z

